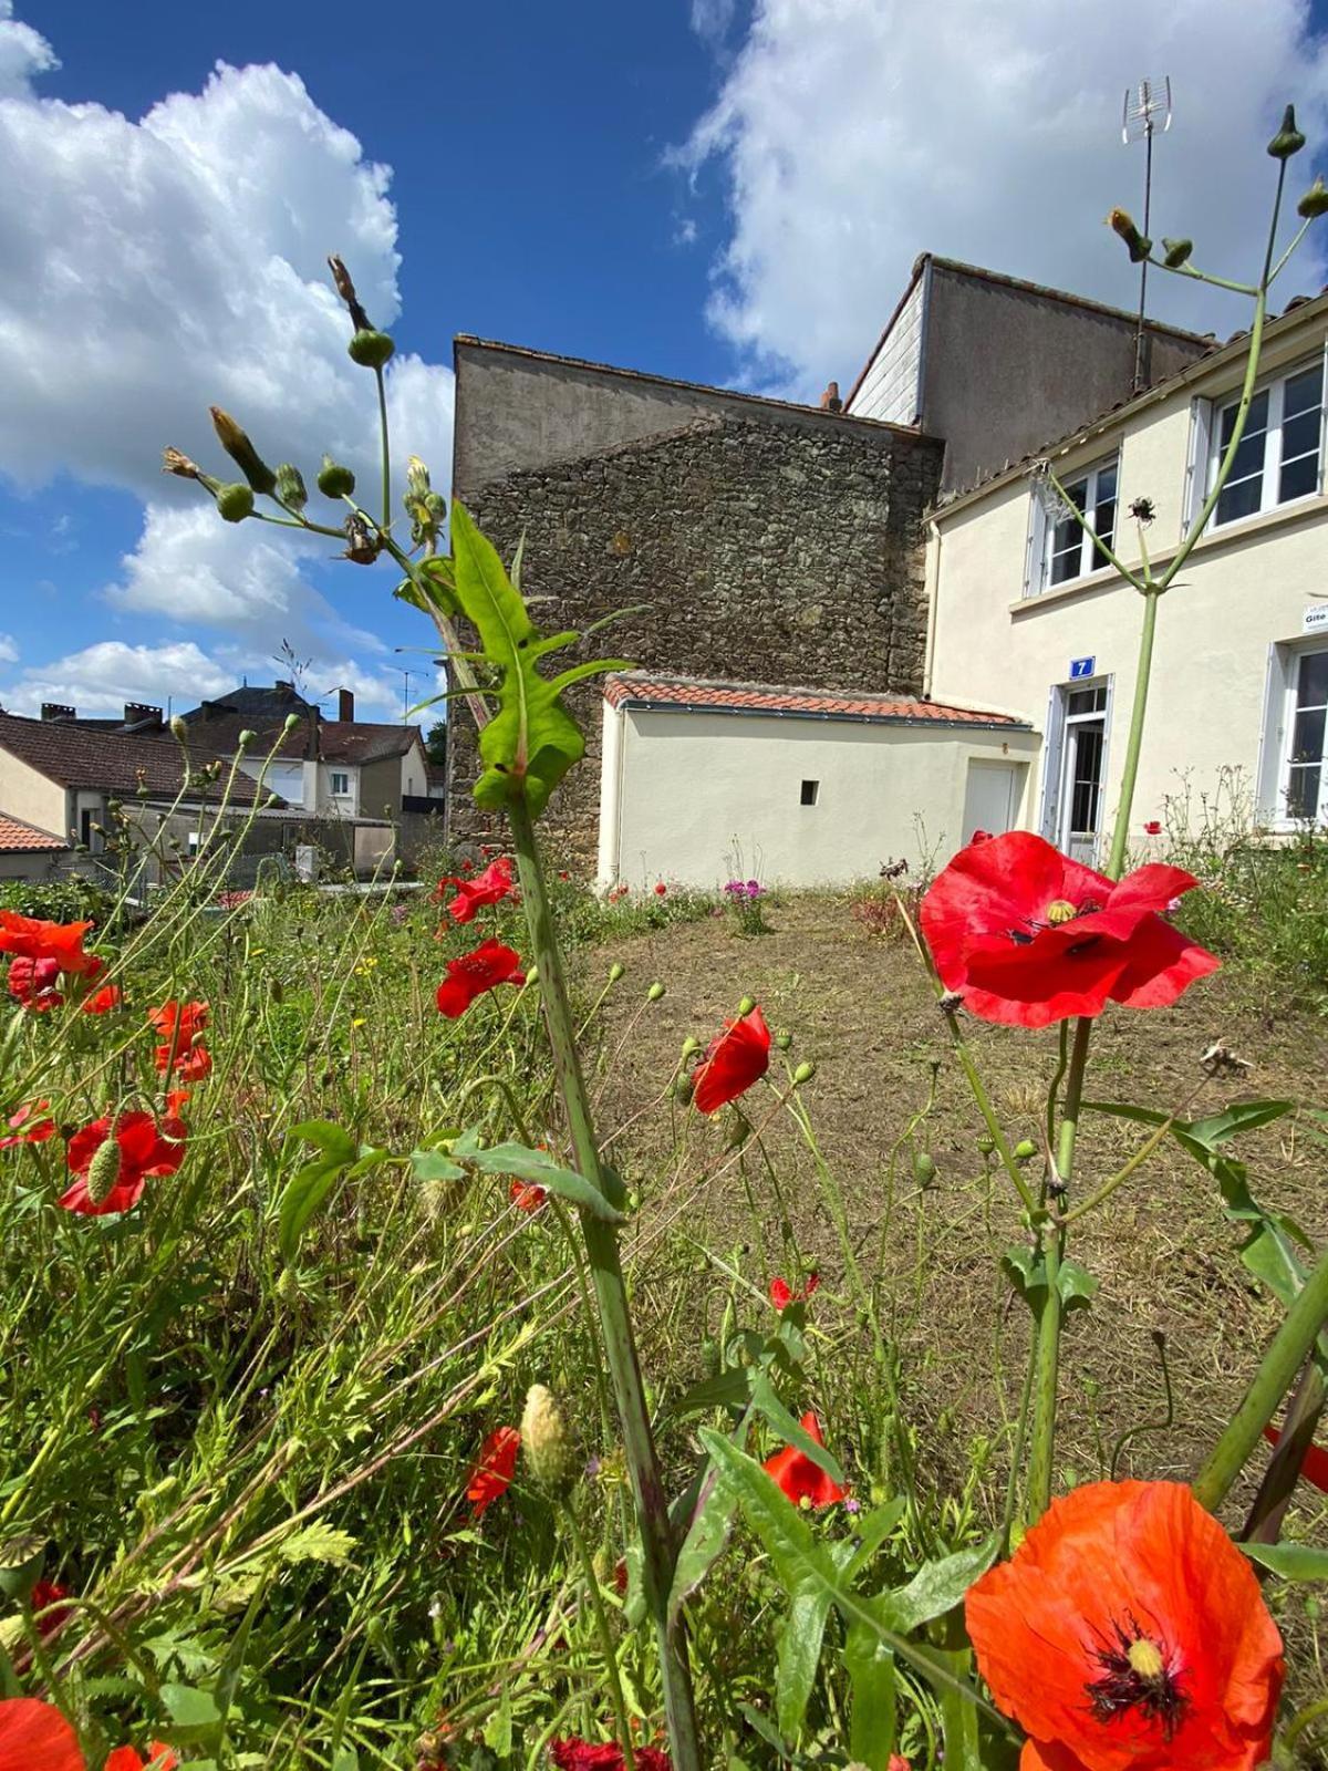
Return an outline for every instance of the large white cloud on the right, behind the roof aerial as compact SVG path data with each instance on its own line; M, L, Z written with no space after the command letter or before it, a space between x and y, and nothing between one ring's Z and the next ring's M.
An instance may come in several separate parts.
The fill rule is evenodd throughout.
M1103 216L1139 209L1144 156L1121 145L1121 99L1147 73L1170 73L1176 92L1153 232L1248 275L1282 104L1312 143L1328 133L1328 51L1305 0L758 0L676 156L694 177L719 163L728 184L714 326L749 377L809 397L827 375L852 381L924 250L1131 305L1139 273ZM1309 161L1293 163L1293 195ZM1314 244L1286 296L1323 273ZM1154 276L1149 296L1177 324L1247 322L1236 298L1177 278Z

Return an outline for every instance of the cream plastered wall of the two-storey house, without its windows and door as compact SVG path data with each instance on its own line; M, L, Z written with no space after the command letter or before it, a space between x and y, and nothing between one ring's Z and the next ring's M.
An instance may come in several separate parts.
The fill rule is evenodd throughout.
M1317 308L1317 303L1316 303ZM1287 324L1261 367L1264 374L1312 361L1324 347L1324 317ZM1163 561L1181 538L1190 450L1192 400L1234 393L1241 363L1225 365L1123 427L1105 430L1064 457L1059 478L1121 448L1117 540L1128 565L1139 561L1128 507L1151 498L1156 517L1147 547ZM1135 689L1139 593L1114 570L1078 588L1022 597L1029 537L1031 480L1016 478L933 522L930 694L937 701L986 707L1046 723L1050 692L1069 680L1071 659L1093 657L1094 678L1110 678L1112 724L1107 753L1107 829L1119 800L1124 739ZM1270 728L1268 684L1273 646L1309 643L1305 611L1328 593L1328 498L1310 498L1206 535L1158 609L1139 788L1131 822L1163 815L1163 802L1186 790L1215 793L1224 767L1238 767L1264 811L1277 788L1277 721ZM1328 643L1328 630L1319 630ZM1278 703L1280 705L1280 703ZM1041 769L1036 770L1041 776ZM1025 799L1038 825L1043 783Z

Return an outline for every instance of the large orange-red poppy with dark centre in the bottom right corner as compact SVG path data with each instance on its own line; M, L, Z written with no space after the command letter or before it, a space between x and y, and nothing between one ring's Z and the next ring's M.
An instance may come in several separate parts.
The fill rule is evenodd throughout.
M969 1589L1022 1771L1254 1771L1282 1638L1254 1569L1183 1482L1089 1482Z

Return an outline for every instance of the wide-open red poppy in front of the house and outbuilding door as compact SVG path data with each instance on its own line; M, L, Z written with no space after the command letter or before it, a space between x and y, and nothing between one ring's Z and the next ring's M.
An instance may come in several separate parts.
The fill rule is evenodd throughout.
M1199 882L1151 864L1123 880L1027 831L961 848L923 900L946 990L979 1020L1046 1027L1107 1001L1165 1008L1218 960L1160 910Z

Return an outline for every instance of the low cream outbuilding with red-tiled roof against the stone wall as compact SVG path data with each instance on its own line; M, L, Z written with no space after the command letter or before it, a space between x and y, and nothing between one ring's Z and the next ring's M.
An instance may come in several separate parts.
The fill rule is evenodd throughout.
M1006 714L887 694L613 675L598 880L841 886L1027 820L1039 739Z

